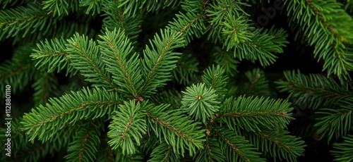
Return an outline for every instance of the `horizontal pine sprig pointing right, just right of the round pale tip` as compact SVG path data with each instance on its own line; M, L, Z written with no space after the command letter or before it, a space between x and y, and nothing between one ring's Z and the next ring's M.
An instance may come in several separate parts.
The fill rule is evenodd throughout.
M222 104L220 113L216 116L232 130L239 130L241 127L256 132L261 130L260 126L272 130L286 127L292 119L289 113L292 108L289 106L287 100L265 99L263 96L239 96L236 99L230 97Z

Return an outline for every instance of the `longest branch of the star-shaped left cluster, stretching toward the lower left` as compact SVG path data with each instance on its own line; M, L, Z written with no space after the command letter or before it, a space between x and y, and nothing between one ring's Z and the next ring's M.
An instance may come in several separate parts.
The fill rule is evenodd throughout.
M111 114L121 104L119 95L105 89L83 88L60 98L51 98L45 106L33 108L23 116L23 131L29 140L38 137L47 141L63 129L67 123L74 125L78 120L101 118Z

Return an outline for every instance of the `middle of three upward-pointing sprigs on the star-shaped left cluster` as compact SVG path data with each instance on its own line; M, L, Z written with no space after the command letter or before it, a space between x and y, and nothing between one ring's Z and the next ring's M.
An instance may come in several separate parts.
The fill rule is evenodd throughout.
M140 61L138 55L132 54L131 42L124 36L121 30L106 32L100 36L103 41L98 41L107 71L112 73L115 85L121 85L119 91L131 94L136 99L140 94L143 82L142 75L138 73Z

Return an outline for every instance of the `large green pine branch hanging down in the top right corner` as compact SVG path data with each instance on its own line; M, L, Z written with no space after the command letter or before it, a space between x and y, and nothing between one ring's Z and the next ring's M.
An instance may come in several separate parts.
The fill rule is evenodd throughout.
M342 4L334 0L296 0L285 1L285 5L292 20L289 25L301 25L309 44L315 44L315 56L325 61L323 70L328 70L328 76L335 74L342 79L353 70L353 53L345 45L353 41L353 18L341 8Z

